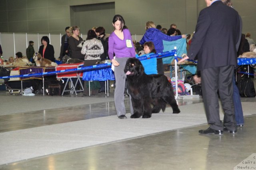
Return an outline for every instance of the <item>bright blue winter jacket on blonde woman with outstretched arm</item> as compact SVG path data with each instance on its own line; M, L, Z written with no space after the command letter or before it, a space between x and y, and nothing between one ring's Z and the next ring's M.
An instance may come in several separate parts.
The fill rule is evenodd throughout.
M142 39L140 40L140 44L143 45L148 41L152 41L154 43L156 53L162 53L164 49L163 40L175 41L181 38L182 38L181 35L169 36L162 33L159 29L149 28L146 30L146 33L143 35Z

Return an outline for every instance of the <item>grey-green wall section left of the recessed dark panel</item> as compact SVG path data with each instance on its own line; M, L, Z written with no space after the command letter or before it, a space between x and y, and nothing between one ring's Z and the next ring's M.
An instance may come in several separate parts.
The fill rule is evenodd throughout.
M70 25L66 0L0 0L0 32L63 33Z

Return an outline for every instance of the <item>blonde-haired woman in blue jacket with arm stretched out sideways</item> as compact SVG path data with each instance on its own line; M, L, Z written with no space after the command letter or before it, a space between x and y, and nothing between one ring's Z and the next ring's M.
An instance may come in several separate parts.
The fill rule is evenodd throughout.
M146 33L140 40L140 44L143 45L147 41L152 41L154 43L156 53L162 53L164 49L163 40L165 41L175 41L177 39L186 38L186 35L168 36L162 33L159 29L156 29L156 25L153 21L148 21L146 23ZM158 74L164 74L163 60L157 59L157 71Z

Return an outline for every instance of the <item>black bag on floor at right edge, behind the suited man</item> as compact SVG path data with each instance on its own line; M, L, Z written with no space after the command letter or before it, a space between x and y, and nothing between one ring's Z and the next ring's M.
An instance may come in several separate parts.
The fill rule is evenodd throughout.
M238 90L241 97L254 98L256 96L254 82L247 76L238 82Z

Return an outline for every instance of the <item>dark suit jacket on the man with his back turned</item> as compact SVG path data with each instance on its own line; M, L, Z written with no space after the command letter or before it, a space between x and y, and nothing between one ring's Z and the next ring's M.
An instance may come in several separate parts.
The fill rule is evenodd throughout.
M222 1L215 1L199 14L188 57L198 57L198 70L236 65L239 38L238 12Z

